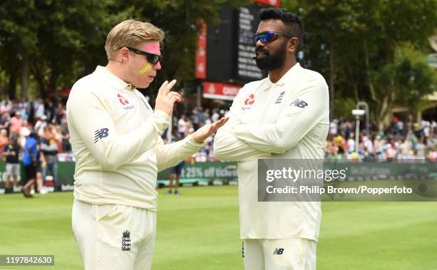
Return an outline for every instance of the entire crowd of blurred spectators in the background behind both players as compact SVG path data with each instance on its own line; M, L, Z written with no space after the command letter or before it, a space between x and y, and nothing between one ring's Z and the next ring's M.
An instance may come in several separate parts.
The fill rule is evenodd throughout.
M22 160L24 145L34 132L38 139L39 160L42 181L47 175L53 177L56 185L56 164L58 161L74 160L69 142L69 130L66 123L66 100L37 98L36 100L0 101L0 157L6 160L11 145L19 145L19 160ZM166 142L181 140L203 125L214 123L228 113L226 109L202 109L194 107L184 110L175 108L171 127L164 132ZM324 147L327 159L349 160L394 160L426 159L437 160L437 123L436 120L403 122L394 118L391 127L378 133L372 127L366 134L363 123L356 149L355 121L346 118L334 119L329 125L329 135ZM205 147L196 153L196 162L217 161L213 155L211 136ZM5 153L5 154L4 154ZM11 158L9 158L11 160ZM8 177L9 178L9 177ZM9 184L9 179L6 178ZM37 181L38 182L38 181ZM41 180L40 180L41 182ZM14 186L16 180L14 179ZM41 186L41 184L38 184Z

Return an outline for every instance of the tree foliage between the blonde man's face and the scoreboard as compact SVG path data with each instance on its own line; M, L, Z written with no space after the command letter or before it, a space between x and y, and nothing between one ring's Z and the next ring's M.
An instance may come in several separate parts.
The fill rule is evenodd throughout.
M119 9L126 10L131 6L129 16L149 21L164 30L164 55L162 70L149 89L158 89L164 80L177 78L179 82L189 83L194 80L197 33L200 31L200 19L206 23L219 21L222 6L237 7L250 4L248 0L164 0L144 1L130 0L120 2ZM126 18L127 19L127 18ZM181 87L181 84L178 85ZM154 100L156 91L149 91Z

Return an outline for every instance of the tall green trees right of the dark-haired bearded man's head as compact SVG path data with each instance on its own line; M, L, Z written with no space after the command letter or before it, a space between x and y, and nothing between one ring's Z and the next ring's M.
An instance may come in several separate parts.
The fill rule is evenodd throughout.
M303 19L303 62L327 79L331 98L367 100L373 122L381 130L393 105L401 103L400 97L418 97L417 90L402 90L396 81L405 69L396 73L391 69L406 56L396 54L401 44L409 43L415 56L423 55L437 26L437 1L289 0L284 6Z

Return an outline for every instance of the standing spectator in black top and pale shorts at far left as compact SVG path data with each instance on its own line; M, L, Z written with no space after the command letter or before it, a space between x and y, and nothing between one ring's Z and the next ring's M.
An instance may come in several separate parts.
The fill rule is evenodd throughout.
M4 147L3 155L6 157L6 182L5 193L12 193L16 188L18 182L18 176L20 173L19 165L19 153L20 145L18 137L13 136L9 141L9 144ZM13 188L11 187L11 177L13 177Z

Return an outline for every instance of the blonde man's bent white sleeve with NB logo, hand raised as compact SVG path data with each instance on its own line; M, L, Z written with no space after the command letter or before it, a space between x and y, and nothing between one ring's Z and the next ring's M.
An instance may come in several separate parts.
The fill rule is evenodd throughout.
M77 93L79 94L79 93ZM103 170L116 170L132 157L155 147L158 135L168 125L170 116L161 110L129 133L119 134L109 110L91 91L72 95L68 103L69 123L91 151Z

